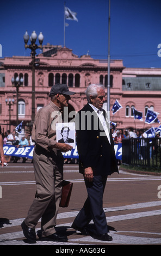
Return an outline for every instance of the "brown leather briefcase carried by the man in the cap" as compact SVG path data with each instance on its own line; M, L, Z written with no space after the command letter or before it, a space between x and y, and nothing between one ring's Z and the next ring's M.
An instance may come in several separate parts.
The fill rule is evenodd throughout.
M73 183L63 180L63 188L61 193L60 207L67 207L69 205Z

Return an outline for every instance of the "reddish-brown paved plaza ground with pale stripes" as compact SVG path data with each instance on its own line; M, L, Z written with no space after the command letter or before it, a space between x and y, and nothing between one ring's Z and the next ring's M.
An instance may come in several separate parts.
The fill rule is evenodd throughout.
M107 245L161 245L160 205L158 189L161 177L123 172L107 180L103 207L113 241L104 242L83 236L71 224L86 199L86 189L77 164L64 165L64 179L73 182L68 208L60 208L57 231L66 234L68 242L40 241L35 245L107 246ZM23 236L21 223L35 195L33 164L9 163L0 169L0 245L30 245ZM93 228L93 224L90 223ZM40 221L36 231L40 230ZM69 248L68 247L68 248ZM55 247L57 248L57 247Z

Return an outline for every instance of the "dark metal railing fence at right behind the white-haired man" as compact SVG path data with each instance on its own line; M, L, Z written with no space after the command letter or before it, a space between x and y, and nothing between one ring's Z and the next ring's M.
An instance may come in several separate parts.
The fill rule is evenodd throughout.
M122 139L122 164L161 167L161 138Z

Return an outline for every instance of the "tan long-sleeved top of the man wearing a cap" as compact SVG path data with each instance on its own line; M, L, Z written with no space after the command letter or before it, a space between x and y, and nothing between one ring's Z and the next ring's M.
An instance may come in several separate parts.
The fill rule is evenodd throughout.
M50 101L47 106L40 108L35 116L32 141L50 151L57 143L56 123L62 123L60 108Z

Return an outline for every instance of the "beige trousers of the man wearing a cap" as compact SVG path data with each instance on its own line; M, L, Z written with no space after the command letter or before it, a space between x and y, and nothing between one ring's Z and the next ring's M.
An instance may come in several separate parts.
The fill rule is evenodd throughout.
M42 236L55 233L55 225L61 198L63 181L63 155L42 152L35 146L33 154L34 173L36 181L36 196L29 208L24 222L29 228L35 228L41 218Z

